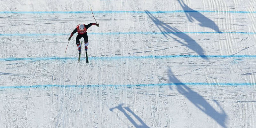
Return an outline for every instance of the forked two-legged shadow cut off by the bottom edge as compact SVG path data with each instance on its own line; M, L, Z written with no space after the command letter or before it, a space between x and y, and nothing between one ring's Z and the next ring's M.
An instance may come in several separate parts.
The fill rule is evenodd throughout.
M113 111L113 109L117 108L118 110L120 110L121 112L124 113L124 115L128 118L128 120L136 127L136 128L149 128L147 124L145 124L141 118L139 116L137 116L129 107L122 107L124 105L123 104L119 104L118 106L114 107L114 108L110 108L110 111ZM128 113L124 110L126 109L128 112L130 112L142 125L138 125L131 116L128 115Z

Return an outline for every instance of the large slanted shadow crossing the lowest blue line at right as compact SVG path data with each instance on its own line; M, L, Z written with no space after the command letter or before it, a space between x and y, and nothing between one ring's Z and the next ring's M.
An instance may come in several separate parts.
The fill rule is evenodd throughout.
M221 108L220 104L214 100L214 102L220 107L221 112L216 111L201 95L194 92L188 86L183 84L180 80L178 80L172 73L171 68L168 69L169 81L177 86L178 92L185 96L190 102L192 102L198 109L203 111L205 114L214 119L218 124L222 127L225 127L225 120L227 118L227 114ZM172 85L169 86L172 90Z

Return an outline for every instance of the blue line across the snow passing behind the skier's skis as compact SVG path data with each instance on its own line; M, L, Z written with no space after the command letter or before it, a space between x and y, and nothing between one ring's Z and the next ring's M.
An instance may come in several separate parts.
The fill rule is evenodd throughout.
M170 59L170 58L256 58L256 55L166 55L166 56L102 56L102 57L89 57L89 60L120 60L120 59ZM0 61L17 61L17 60L77 60L77 57L39 57L39 58L0 58ZM84 58L81 58L84 60Z

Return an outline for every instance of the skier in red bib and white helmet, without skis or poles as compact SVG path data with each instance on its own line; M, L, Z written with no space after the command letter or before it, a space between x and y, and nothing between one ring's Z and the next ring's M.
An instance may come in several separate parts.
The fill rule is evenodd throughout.
M90 23L88 25L84 25L84 24L79 24L76 26L76 28L74 29L74 31L70 34L70 37L68 38L68 41L70 41L71 37L77 32L77 36L76 36L76 46L78 47L78 52L79 54L81 53L81 44L80 44L80 39L82 37L84 37L84 46L85 46L85 51L87 52L87 46L88 46L88 36L87 36L87 32L86 30L88 28L90 28L92 25L96 25L97 27L100 26L100 24L96 24L96 23Z

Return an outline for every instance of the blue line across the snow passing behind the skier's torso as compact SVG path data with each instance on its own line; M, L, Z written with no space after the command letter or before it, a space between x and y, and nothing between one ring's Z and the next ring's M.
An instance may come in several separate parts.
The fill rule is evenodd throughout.
M256 32L107 32L87 33L88 35L121 35L121 34L256 34ZM0 34L0 36L69 36L68 33L12 33Z

